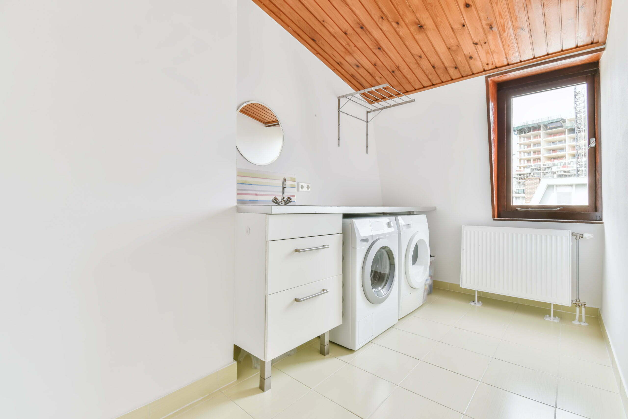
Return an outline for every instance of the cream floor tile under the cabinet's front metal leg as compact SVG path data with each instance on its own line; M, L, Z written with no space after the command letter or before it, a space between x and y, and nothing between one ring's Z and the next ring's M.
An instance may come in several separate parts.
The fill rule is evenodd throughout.
M259 389L259 376L252 376L224 391L224 394L254 419L272 418L304 396L310 389L288 374L273 368L272 389Z

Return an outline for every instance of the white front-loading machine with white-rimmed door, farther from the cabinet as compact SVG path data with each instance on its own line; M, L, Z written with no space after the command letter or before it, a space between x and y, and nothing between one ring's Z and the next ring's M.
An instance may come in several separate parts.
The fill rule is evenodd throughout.
M430 233L425 215L396 215L399 231L399 318L425 302L425 280L430 275Z

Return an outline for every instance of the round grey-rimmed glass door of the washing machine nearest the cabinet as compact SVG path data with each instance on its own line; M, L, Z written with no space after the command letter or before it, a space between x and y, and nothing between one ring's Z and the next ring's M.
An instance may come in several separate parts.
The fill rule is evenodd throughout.
M380 237L369 246L362 267L362 290L369 302L381 304L390 297L394 273L393 244L387 237Z

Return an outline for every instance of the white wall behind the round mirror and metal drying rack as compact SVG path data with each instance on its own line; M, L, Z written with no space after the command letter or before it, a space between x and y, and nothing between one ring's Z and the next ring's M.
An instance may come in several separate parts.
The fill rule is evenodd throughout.
M344 116L337 147L336 98L353 89L251 0L237 4L237 104L267 104L284 132L274 163L252 165L236 152L237 165L310 182L299 205L380 205L377 148L372 141L365 154L364 123Z

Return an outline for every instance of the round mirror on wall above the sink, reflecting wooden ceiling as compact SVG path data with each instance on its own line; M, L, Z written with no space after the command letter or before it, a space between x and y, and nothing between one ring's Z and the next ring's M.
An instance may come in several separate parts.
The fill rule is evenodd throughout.
M236 146L254 165L265 166L277 160L283 147L283 130L268 106L246 102L238 108Z

